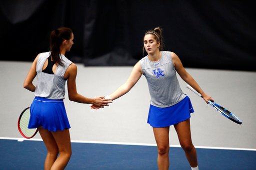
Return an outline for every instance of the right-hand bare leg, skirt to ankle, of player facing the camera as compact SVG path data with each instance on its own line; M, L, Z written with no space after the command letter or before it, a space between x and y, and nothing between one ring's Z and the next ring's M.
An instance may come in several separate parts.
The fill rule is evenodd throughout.
M187 119L183 122L175 124L174 128L177 132L180 146L185 152L187 161L191 167L197 167L196 151L191 140L190 120Z

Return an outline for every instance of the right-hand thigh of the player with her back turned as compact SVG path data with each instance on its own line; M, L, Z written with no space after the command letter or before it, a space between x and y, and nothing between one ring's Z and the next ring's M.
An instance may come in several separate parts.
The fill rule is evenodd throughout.
M59 152L71 152L71 142L68 129L51 132L51 134L55 139Z

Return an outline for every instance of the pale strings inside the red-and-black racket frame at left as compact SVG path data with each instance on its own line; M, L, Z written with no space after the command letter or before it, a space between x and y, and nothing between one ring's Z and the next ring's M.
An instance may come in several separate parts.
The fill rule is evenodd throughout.
M28 129L28 123L30 119L30 110L27 109L21 116L19 121L19 128L20 131L23 133L25 137L31 137L35 133L35 129Z

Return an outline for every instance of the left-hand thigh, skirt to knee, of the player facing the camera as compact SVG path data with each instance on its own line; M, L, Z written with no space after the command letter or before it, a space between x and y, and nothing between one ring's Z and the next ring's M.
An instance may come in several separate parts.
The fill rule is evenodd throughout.
M158 146L169 146L169 126L163 128L153 128L155 142Z

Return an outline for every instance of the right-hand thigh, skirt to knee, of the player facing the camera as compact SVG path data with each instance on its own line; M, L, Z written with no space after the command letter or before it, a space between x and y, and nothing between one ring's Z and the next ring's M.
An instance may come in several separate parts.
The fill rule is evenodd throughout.
M190 132L190 119L177 123L173 126L177 132L178 140L181 146L183 144L192 144Z

